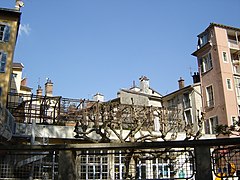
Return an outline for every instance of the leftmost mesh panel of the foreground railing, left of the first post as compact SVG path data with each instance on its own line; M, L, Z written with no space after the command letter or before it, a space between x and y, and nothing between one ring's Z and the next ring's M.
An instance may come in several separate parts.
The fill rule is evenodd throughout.
M0 179L58 179L55 151L0 151Z

